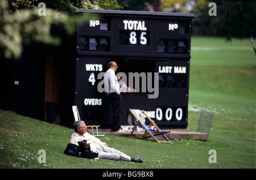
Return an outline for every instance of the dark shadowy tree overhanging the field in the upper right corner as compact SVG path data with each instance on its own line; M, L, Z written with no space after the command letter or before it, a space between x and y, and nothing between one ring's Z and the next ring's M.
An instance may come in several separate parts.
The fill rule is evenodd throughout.
M226 41L232 38L251 38L254 52L253 37L256 36L256 2L253 1L205 1L205 5L193 9L195 20L193 28L199 28L199 35L222 36ZM217 16L210 16L208 6L215 2Z

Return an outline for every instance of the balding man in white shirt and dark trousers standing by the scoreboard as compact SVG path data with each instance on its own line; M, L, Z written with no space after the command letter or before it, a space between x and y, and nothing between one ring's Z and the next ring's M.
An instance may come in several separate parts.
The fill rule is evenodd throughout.
M108 71L104 75L104 88L110 105L113 109L113 121L110 125L112 131L119 131L122 119L122 96L119 91L119 84L115 71L117 71L117 63L110 61L108 63Z

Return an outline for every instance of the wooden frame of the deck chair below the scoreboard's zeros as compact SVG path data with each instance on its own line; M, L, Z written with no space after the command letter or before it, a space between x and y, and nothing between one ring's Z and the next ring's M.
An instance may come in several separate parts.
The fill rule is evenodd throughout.
M150 132L150 130L148 130L148 128L144 125L144 123L142 123L141 120L137 118L137 116L133 113L133 111L132 111L131 109L129 109L129 112L131 113L131 115L133 115L133 117L134 117L135 119L137 119L137 123L136 123L136 125L134 125L133 131L131 131L130 135L128 136L129 138L145 138L145 139L146 139L146 138L152 137L152 138L155 139L155 141L158 142L158 143L170 143L170 144L172 144L172 143L170 142L170 140L167 138L167 136L165 135L167 132L158 133L158 132L161 131L160 128L155 124L155 122L154 122L150 117L148 117L148 115L144 112L144 110L142 110L142 112L143 112L144 115L146 115L146 118L148 119L148 121L150 121L150 125L149 125L149 126L155 126L156 131ZM144 134L139 134L139 135L134 135L134 136L132 136L132 135L133 135L133 132L135 131L135 129L136 129L137 126L139 126L139 125L141 125L141 126L144 128L145 133L144 133ZM159 141L159 140L155 137L155 136L157 136L157 135L163 135L164 139L166 139L167 142Z

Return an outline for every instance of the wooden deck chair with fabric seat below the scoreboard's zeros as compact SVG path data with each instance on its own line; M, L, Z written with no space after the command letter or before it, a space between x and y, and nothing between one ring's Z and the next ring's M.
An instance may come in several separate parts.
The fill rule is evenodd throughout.
M139 110L139 109L129 109L129 115L128 115L128 123L129 125L133 125L133 131L131 131L129 138L150 138L152 137L155 139L156 142L158 143L170 143L170 140L167 138L165 135L166 133L170 131L163 131L160 130L160 128L155 124L155 122L147 116L147 114L144 112L144 110ZM150 125L146 125L146 119L143 117L143 114L146 115L146 118L148 121L150 121ZM139 134L139 135L133 135L133 132L137 128L137 126L143 128L145 130L144 134ZM156 130L153 128L150 128L150 126L155 126ZM164 141L159 141L155 136L162 135L164 139L167 140L167 142Z

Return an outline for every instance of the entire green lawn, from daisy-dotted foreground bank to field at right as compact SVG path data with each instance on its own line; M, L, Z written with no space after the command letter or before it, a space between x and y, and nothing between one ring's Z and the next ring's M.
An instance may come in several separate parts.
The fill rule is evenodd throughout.
M249 39L192 37L187 131L197 131L200 108L216 112L207 142L102 137L142 164L64 155L73 130L0 110L0 168L216 169L255 168L255 68ZM46 151L46 163L38 151ZM210 149L217 163L209 163Z

